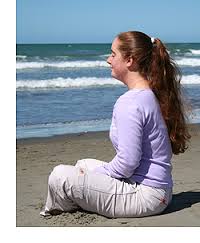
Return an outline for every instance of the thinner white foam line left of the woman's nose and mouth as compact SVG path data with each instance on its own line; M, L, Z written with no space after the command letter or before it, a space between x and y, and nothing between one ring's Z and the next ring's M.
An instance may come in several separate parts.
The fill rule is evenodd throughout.
M67 62L17 62L17 69L27 68L87 68L87 67L109 67L106 61L67 61Z

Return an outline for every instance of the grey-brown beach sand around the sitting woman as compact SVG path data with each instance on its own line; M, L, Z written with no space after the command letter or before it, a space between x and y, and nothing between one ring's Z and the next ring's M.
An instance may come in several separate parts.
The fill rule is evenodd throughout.
M17 140L17 226L200 226L200 125L191 125L190 130L189 149L173 156L171 205L162 215L145 218L109 219L84 211L39 215L53 167L84 158L113 158L108 132Z

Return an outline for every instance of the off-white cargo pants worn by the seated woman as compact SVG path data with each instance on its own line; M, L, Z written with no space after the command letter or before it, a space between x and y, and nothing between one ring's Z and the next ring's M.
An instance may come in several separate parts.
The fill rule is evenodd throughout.
M106 217L144 217L161 213L172 198L171 189L158 189L94 173L103 161L78 160L58 165L49 176L43 216L82 208Z

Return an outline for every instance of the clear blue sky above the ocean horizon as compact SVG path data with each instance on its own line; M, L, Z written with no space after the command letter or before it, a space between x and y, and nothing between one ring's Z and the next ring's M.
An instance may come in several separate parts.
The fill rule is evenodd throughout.
M139 30L200 42L199 0L17 0L17 43L110 43Z

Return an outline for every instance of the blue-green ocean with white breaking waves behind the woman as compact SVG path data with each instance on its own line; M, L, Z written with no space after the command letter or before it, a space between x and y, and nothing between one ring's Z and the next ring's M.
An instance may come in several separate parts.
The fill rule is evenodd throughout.
M200 123L200 43L166 43L182 71ZM127 88L111 77L111 44L17 44L16 137L109 130L113 105Z

